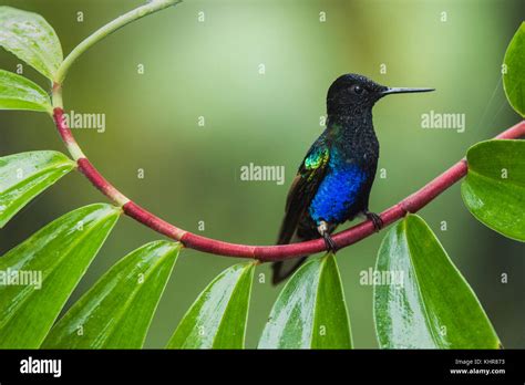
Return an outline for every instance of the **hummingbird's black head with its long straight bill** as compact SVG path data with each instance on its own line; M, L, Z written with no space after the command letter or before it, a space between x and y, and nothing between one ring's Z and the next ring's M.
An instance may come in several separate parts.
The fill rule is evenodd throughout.
M371 110L385 95L430 91L434 90L388 87L363 75L349 73L339 76L330 85L327 95L328 115L359 114L367 108Z

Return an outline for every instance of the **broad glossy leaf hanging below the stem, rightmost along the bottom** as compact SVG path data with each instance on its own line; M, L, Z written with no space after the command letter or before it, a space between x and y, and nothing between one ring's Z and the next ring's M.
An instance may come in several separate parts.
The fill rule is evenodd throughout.
M409 215L384 237L373 288L382 348L497 348L476 295L423 219Z

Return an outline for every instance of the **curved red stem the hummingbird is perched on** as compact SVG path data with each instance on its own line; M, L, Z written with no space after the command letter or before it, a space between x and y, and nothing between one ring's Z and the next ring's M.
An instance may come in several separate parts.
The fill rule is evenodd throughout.
M62 141L66 146L71 144L76 145L76 142L63 119L63 110L54 108L54 121ZM513 127L506 129L496 138L512 139L525 136L525 121L522 121ZM78 146L78 145L76 145ZM299 256L312 254L326 250L325 241L322 239L310 240L300 243L280 244L280 246L248 246L229 243L220 240L197 236L195 233L185 231L176 226L164 221L154 214L145 210L137 204L124 197L115 187L113 187L90 163L85 157L78 159L79 170L106 197L116 204L123 204L123 198L126 202L123 204L124 212L135 219L136 221L150 227L151 229L169 237L174 240L181 241L185 247L219 256L255 258L260 261L278 261ZM390 225L401 218L406 212L415 212L423 208L426 204L433 200L441 192L446 190L453 184L459 181L466 175L466 160L462 159L449 168L446 171L431 180L421 189L401 200L399 204L388 208L381 212L381 219L384 225ZM374 227L370 220L366 220L344 231L333 236L333 240L339 248L344 248L352 243L360 241L375 232Z

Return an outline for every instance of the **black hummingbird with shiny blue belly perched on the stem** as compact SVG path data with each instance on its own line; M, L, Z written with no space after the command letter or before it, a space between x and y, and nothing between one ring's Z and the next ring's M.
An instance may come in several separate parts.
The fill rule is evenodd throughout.
M347 220L362 215L372 220L377 231L383 227L381 218L369 210L379 160L372 107L387 95L430 91L434 89L388 87L352 73L330 85L326 129L294 178L277 244L322 237L327 250L336 252L330 235ZM272 283L287 279L307 258L274 262Z

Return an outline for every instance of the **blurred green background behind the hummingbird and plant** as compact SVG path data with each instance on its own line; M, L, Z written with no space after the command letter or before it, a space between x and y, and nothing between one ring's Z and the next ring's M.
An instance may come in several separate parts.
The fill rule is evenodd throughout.
M2 3L41 13L68 53L141 1ZM78 12L83 12L83 22ZM326 12L326 22L320 22L320 12ZM519 119L505 101L500 71L522 15L521 0L187 0L126 27L82 56L64 85L65 108L106 115L105 133L74 134L91 160L132 199L207 237L269 244L297 166L322 132L326 92L337 76L357 72L391 86L437 90L391 96L374 108L379 167L387 178L377 178L371 209L381 211L460 159L472 144ZM385 74L380 73L382 63ZM0 67L16 71L17 64L13 55L0 53ZM144 74L137 73L140 64ZM24 75L47 86L29 66ZM431 110L464 113L465 132L422 129L421 114ZM2 112L0 125L2 156L64 150L44 114ZM239 169L249 163L284 165L285 185L240 181ZM144 179L137 177L141 168ZM0 252L60 215L97 201L105 198L80 174L68 176L0 231ZM525 347L523 244L477 222L464 207L459 185L420 214L477 293L504 346ZM198 231L199 221L205 231ZM69 305L116 260L158 238L123 217ZM359 273L374 266L381 239L377 235L338 253L360 348L377 346L372 287L360 285ZM185 250L146 346L164 346L197 294L235 262ZM254 283L248 347L256 346L280 290L269 283L269 266L256 273L266 274L266 283ZM501 282L503 273L507 283Z

